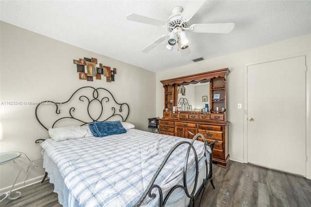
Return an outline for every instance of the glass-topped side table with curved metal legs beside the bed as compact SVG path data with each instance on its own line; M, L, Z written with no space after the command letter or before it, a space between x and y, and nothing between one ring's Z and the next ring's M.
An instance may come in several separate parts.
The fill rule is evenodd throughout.
M0 193L0 196L2 196L2 195L5 196L4 198L2 198L2 199L0 200L0 202L3 201L5 198L8 198L9 200L15 200L15 199L19 198L19 196L21 195L21 192L16 191L16 193L18 194L17 197L15 197L15 198L12 198L12 197L11 197L11 192L12 192L12 190L13 190L15 184L16 184L17 178L18 178L18 176L19 176L21 170L24 168L24 164L25 164L25 158L24 158L24 157L21 157L21 156L20 156L21 154L22 154L22 153L20 153L20 152L0 153L0 165L4 165L4 164L9 163L9 162L17 163L17 162L15 161L17 158L21 158L21 159L23 160L23 164L21 165L21 168L20 168L20 170L19 170L19 173L17 174L17 177L16 177L16 179L15 179L15 182L14 182L14 184L13 184L13 186L12 186L10 192Z

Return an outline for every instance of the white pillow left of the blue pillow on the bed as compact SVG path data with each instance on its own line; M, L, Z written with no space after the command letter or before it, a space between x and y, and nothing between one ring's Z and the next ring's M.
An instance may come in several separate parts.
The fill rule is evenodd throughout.
M54 141L93 136L88 126L67 126L51 128L49 129L49 135Z

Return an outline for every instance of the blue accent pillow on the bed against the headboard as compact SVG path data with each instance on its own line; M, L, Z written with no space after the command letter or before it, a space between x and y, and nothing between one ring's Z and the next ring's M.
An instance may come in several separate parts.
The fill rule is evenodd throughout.
M122 126L121 121L103 121L88 124L94 137L105 137L125 133L126 129Z

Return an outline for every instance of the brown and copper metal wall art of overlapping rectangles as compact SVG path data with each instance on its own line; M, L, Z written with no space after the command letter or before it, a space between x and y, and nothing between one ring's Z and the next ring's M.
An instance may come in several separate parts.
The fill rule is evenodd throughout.
M77 65L77 72L81 80L93 81L93 77L97 80L102 80L102 75L104 75L107 82L115 81L117 69L103 66L102 63L100 63L99 68L97 68L96 58L79 58L79 60L73 60L73 64Z

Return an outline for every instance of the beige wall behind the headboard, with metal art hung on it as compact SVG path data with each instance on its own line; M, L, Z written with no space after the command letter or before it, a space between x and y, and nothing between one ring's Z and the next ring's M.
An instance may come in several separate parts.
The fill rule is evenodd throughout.
M129 104L131 111L128 121L135 124L137 129L148 131L148 118L155 116L154 72L4 22L0 22L0 28L0 104L66 101L68 95L79 87L104 87L114 94L118 102ZM79 80L72 60L81 57L94 57L99 63L117 68L115 82ZM35 140L49 137L35 119L35 105L2 104L0 112L4 130L0 152L23 152L31 160L42 157L40 144L35 144ZM29 175L29 180L33 182L44 174L42 160L36 164L39 167L34 167ZM7 187L13 184L18 170L19 165L13 162L0 166L0 192L9 190ZM26 173L22 172L17 183L25 178Z

